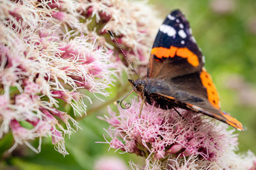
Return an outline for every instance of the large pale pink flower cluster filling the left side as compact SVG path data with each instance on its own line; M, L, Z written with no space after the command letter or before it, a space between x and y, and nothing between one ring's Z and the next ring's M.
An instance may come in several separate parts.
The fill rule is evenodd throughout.
M3 1L0 6L0 139L12 132L15 144L40 152L42 137L51 136L58 152L64 137L79 125L92 101L84 90L108 96L116 65L111 53L88 41L80 31L74 1ZM60 11L59 11L60 10ZM84 100L86 99L86 100ZM64 104L61 104L64 103ZM62 111L61 111L62 110ZM29 141L40 139L38 147Z

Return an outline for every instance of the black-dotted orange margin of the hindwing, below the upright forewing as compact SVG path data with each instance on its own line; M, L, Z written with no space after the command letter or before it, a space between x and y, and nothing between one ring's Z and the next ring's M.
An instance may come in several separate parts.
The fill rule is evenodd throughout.
M207 90L207 96L209 102L217 109L220 109L220 97L218 95L217 89L212 82L211 75L206 72L203 68L202 72L200 73L200 79L202 84L204 85L205 89Z

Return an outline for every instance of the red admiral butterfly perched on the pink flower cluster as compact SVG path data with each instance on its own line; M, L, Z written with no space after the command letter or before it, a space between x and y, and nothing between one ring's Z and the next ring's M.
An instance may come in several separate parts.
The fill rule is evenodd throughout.
M242 124L220 110L220 99L204 56L192 36L189 22L179 10L167 15L159 28L145 79L129 80L148 104L203 113L243 131Z

